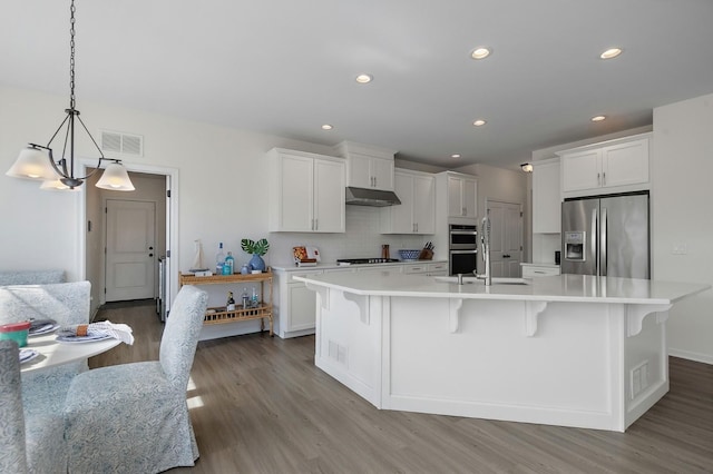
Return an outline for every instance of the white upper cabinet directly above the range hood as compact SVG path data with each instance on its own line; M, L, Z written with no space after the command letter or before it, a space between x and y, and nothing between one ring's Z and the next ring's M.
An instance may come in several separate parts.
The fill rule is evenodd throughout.
M394 190L394 151L342 141L335 148L346 160L346 186Z

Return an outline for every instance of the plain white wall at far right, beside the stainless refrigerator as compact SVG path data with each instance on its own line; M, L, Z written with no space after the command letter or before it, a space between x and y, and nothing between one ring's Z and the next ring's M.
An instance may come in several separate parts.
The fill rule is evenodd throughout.
M713 284L713 95L654 109L653 144L653 278ZM670 354L713 364L713 292L676 304L667 327Z

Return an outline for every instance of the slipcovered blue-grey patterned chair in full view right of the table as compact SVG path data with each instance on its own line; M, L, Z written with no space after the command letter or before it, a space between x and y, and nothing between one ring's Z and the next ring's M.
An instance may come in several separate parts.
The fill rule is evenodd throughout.
M172 306L159 361L75 377L65 405L70 473L157 473L198 457L186 391L207 294L184 286Z

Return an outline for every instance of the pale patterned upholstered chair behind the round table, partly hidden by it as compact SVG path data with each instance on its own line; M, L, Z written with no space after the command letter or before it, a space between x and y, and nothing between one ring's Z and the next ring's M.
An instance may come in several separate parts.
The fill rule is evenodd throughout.
M89 323L90 293L89 282L0 286L0 324L29 318L51 318L60 325ZM29 472L66 473L62 407L69 384L87 369L82 361L21 375Z

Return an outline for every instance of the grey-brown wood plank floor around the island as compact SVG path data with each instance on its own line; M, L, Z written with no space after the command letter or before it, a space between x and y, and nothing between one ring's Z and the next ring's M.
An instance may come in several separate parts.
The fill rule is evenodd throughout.
M158 357L154 306L90 367ZM188 389L201 450L170 473L713 473L713 366L671 358L671 392L626 433L379 411L314 366L314 337L198 344ZM128 454L128 453L127 453Z

